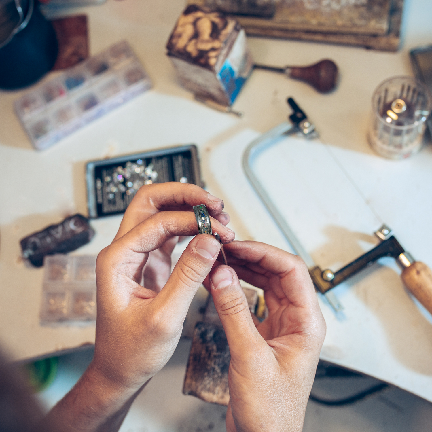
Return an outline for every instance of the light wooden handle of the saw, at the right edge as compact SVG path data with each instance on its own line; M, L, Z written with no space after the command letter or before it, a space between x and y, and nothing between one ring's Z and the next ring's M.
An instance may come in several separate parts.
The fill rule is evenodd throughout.
M403 269L402 281L414 297L432 314L432 271L424 263L414 261Z

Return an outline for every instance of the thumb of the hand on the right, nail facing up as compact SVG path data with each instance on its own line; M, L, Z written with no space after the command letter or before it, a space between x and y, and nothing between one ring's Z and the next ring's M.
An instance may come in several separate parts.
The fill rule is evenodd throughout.
M263 341L252 321L246 295L235 271L225 265L210 272L210 289L222 321L231 357L248 356L252 346Z

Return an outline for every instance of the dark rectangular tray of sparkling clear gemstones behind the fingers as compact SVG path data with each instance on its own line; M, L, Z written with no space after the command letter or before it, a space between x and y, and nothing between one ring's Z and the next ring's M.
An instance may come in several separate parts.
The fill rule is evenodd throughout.
M140 187L167 181L203 187L194 144L88 162L89 216L124 213Z

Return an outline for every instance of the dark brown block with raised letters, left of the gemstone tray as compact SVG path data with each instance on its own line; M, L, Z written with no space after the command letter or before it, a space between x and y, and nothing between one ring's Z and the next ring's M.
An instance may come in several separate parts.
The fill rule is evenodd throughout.
M45 255L74 251L88 243L94 234L88 219L77 213L57 225L47 226L23 238L20 241L22 256L34 266L41 267Z

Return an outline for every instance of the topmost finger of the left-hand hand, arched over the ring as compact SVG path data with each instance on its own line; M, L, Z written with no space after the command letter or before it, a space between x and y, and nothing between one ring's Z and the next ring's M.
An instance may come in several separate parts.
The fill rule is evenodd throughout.
M122 237L133 227L160 210L165 209L165 207L180 208L190 206L192 208L199 204L205 204L210 216L213 216L215 219L219 220L221 218L218 216L226 215L226 213L222 212L224 207L223 201L195 184L184 184L178 181L146 184L140 187L127 207L114 240ZM226 215L226 218L228 218L228 215ZM219 220L219 222L226 225L222 220Z

